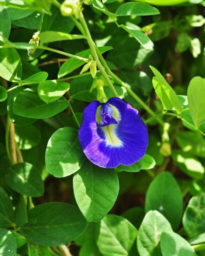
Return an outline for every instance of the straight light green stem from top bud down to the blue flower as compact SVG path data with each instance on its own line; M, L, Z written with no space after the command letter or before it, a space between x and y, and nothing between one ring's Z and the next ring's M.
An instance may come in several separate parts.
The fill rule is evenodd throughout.
M80 12L80 17L79 17L79 19L80 19L80 23L81 23L81 25L82 25L82 27L83 27L83 29L84 29L84 32L85 32L85 34L86 34L86 38L87 38L87 41L88 41L88 44L89 44L89 47L90 47L90 50L91 50L91 54L92 54L92 56L93 56L93 59L94 59L94 60L96 61L96 63L97 63L98 69L100 70L100 72L101 72L102 76L104 77L106 83L107 83L108 86L110 87L110 90L112 91L113 95L114 95L115 97L119 97L119 95L117 94L117 91L116 91L114 85L112 84L110 78L108 77L108 74L107 74L106 71L104 70L104 67L103 67L103 65L101 64L101 62L100 62L100 60L99 60L99 58L98 58L98 55L97 55L97 52L96 52L96 49L95 49L95 44L94 44L94 42L93 42L93 39L92 39L92 37L91 37L91 34L90 34L90 32L89 32L87 23L86 23L86 21L85 21L85 19L84 19L84 16L83 16L82 12Z

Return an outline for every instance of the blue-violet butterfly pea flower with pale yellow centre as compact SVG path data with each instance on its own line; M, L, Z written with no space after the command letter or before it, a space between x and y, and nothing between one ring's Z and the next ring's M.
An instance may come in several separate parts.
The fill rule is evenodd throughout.
M104 168L132 165L148 146L147 127L138 111L119 98L91 102L78 134L88 159Z

